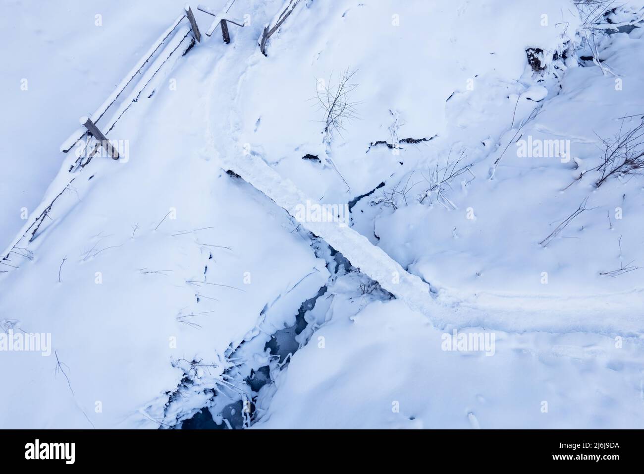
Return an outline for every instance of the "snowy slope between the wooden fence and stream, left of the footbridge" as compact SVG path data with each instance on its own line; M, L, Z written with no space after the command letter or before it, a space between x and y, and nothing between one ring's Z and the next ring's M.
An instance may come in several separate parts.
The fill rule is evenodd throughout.
M193 59L203 70L213 63L206 53ZM164 394L183 375L173 361L204 359L223 370L219 360L256 326L267 302L291 291L303 301L327 280L325 263L306 235L293 232L286 213L199 152L194 120L207 115L191 96L201 76L185 68L173 75L176 91L167 76L159 77L146 88L156 89L158 99L140 101L115 126L114 136L130 139L129 160L95 159L77 173L53 208L53 221L30 244L34 259L14 255L19 268L0 275L2 319L51 333L73 389L55 373L53 356L39 361L31 353L2 353L2 377L12 380L3 397L7 404L20 400L2 411L2 426L156 428L166 416ZM133 135L140 121L153 126ZM187 152L169 136L193 137L196 145ZM62 166L65 179L68 169ZM164 219L171 208L176 219ZM182 410L177 413L190 414L189 407Z

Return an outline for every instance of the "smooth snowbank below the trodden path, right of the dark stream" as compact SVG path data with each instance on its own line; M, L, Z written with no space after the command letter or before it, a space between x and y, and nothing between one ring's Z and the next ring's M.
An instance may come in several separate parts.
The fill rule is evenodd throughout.
M618 349L599 335L495 334L495 355L486 357L441 350L442 331L399 301L374 302L352 317L336 312L316 332L325 347L313 339L294 355L254 426L642 426L641 341Z

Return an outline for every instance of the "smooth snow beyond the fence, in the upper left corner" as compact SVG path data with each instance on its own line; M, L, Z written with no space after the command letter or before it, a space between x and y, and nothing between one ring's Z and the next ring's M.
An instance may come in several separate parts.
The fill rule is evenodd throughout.
M181 11L182 3L160 0L155 15L143 3L34 0L3 2L3 74L0 102L0 247L41 202L65 155L59 145L126 75ZM96 15L102 25L96 26ZM99 66L96 51L100 51ZM28 89L21 90L26 79ZM39 132L34 135L33 126Z

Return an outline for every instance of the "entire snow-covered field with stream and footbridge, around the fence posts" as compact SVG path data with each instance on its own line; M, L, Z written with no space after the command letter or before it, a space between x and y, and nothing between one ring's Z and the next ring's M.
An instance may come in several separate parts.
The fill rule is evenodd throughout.
M644 426L644 0L197 6L6 2L1 428Z

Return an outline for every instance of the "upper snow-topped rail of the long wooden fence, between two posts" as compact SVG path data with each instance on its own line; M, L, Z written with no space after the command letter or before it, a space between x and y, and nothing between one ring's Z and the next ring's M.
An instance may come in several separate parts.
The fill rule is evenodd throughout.
M187 32L185 31L185 28L179 28L178 33L182 34L183 37L181 41L183 41L187 35L190 34L190 32L193 33L194 39L196 41L200 41L201 39L201 34L199 32L199 28L196 24L196 21L194 19L194 15L192 12L192 9L190 8L189 5L185 5L184 12L180 14L178 17L176 17L175 21L170 25L166 31L164 31L158 39L155 41L155 43L149 48L149 50L144 54L141 59L138 60L137 64L129 70L128 74L120 81L118 86L115 88L115 90L108 96L105 101L100 104L99 108L91 114L88 119L91 121L92 124L97 124L97 122L101 119L103 115L109 110L109 108L117 102L118 97L128 88L128 86L132 83L132 81L137 77L138 74L143 70L143 68L146 66L146 64L152 59L152 57L156 54L158 50L160 50L161 46L166 44L166 41L168 39L173 39L176 37L175 31L179 27L179 25L182 23L183 19L187 18L190 24L190 28L187 29ZM174 52L174 50L172 50ZM139 83L142 81L139 81ZM112 125L113 126L113 125ZM110 128L111 129L111 128ZM108 130L109 131L109 130ZM62 144L61 144L61 152L67 153L73 148L75 144L77 144L79 141L83 139L83 137L86 135L86 133L91 133L86 126L81 126L75 132L71 133L70 137L66 139Z

